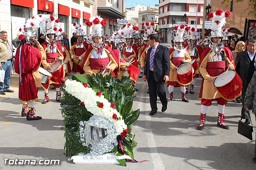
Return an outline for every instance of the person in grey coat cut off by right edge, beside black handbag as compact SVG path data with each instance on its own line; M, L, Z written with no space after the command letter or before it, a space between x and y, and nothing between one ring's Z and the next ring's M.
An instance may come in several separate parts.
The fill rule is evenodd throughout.
M256 71L252 76L252 79L248 85L246 90L245 98L244 98L244 108L246 111L252 109L252 113L256 118ZM254 150L254 161L256 161L256 140L255 140L255 150Z

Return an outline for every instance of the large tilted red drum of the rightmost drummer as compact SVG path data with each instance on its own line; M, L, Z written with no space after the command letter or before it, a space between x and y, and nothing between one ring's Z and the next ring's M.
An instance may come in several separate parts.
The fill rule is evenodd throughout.
M214 86L220 96L227 101L233 101L242 94L242 80L234 70L224 71L215 79Z

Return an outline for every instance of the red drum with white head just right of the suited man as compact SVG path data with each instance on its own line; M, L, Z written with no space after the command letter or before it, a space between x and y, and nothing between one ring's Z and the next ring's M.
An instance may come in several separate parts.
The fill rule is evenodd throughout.
M193 67L190 63L183 63L177 69L177 82L180 85L189 85L193 81Z

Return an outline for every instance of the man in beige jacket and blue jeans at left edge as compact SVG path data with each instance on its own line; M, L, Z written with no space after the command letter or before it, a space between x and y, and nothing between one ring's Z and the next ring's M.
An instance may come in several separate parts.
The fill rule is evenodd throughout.
M12 73L12 45L7 40L7 32L0 32L0 68L4 69L4 82L0 82L0 95L5 95L5 92L13 93L14 91L9 89L10 78Z

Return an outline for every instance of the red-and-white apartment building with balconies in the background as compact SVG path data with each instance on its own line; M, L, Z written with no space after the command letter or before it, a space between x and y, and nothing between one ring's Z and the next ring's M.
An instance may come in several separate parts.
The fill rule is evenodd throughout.
M173 28L185 22L186 26L202 29L204 0L159 0L159 35L170 43Z

